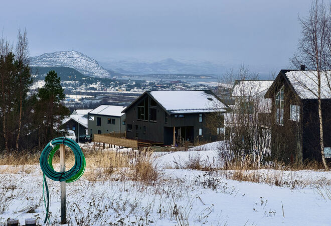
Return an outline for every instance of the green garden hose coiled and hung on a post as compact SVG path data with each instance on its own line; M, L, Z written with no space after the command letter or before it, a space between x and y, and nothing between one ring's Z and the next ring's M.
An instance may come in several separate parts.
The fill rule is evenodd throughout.
M75 156L75 164L74 166L63 173L57 172L53 168L52 160L54 154L60 148L60 144L64 144L69 147ZM43 196L44 196L44 203L46 208L46 217L44 223L47 222L48 219L48 209L49 209L49 190L47 186L46 176L54 181L66 181L67 183L74 182L78 180L85 171L85 157L82 152L82 149L79 145L71 139L66 139L64 137L55 138L50 143L46 145L42 154L40 155L40 168L44 174L44 181L43 181ZM45 200L45 188L47 194L47 205Z

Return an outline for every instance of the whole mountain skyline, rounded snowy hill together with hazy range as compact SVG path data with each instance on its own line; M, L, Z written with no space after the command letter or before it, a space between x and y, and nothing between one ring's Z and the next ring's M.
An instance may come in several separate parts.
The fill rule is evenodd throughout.
M181 62L168 58L156 62L143 62L140 60L103 60L100 64L77 51L58 51L44 53L40 56L32 57L30 66L33 67L68 67L77 70L85 76L112 78L127 75L140 76L167 76L178 75L176 77L188 77L187 75L209 75L217 77L223 74L227 68L238 68L238 65L221 65L209 61L189 61ZM45 68L42 70L46 70ZM267 74L260 74L266 77ZM169 77L169 76L168 76Z

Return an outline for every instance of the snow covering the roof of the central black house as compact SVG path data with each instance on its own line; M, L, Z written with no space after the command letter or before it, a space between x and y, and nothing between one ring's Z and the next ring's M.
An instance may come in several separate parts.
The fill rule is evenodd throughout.
M213 112L226 107L210 90L161 90L149 93L172 114Z

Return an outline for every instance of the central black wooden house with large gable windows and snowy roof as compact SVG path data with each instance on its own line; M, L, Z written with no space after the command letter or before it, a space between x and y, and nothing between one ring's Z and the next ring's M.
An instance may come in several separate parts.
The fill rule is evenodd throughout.
M224 122L213 131L207 127L206 117L223 114L226 108L210 90L146 91L122 111L126 138L163 145L216 141L220 135L224 137Z

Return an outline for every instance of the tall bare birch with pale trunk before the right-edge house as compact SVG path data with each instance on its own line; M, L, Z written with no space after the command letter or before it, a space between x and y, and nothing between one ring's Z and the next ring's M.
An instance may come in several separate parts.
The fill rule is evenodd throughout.
M321 99L321 84L323 79L327 80L330 89L329 76L326 69L330 65L327 39L329 38L330 28L330 11L327 10L323 1L315 0L309 9L309 15L304 18L299 17L301 23L301 37L298 42L297 53L291 59L293 65L305 65L309 73L306 73L304 82L302 78L296 78L302 88L310 91L318 102L318 120L319 120L319 143L322 163L325 169L328 169L324 157L323 142L323 121ZM313 87L308 84L312 84Z

